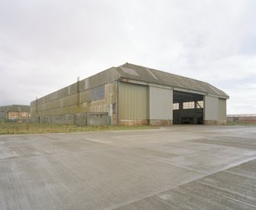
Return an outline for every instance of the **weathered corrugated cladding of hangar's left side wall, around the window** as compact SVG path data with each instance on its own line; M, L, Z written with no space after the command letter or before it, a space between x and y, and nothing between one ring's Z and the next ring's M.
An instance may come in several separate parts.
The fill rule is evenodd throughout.
M111 68L45 95L31 102L31 116L67 115L91 111L109 112L109 102L115 102L116 86L108 82L118 78L118 72ZM92 102L92 89L99 86L105 86L105 99ZM109 99L109 92L114 92L111 99Z

